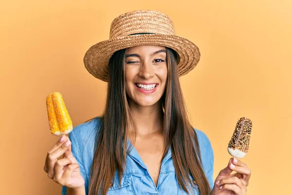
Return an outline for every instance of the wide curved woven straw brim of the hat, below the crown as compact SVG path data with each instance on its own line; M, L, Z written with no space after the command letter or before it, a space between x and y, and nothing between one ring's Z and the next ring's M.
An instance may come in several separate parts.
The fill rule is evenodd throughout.
M84 65L95 78L108 81L108 64L118 50L138 45L160 45L175 50L180 56L179 76L193 70L200 60L199 48L190 40L176 35L142 34L108 39L92 45L84 56Z

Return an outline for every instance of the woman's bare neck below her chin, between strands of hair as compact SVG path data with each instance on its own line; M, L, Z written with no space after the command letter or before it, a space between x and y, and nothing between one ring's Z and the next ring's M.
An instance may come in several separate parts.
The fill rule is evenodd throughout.
M151 106L141 106L129 101L129 107L136 130L136 137L163 132L163 109L161 101Z

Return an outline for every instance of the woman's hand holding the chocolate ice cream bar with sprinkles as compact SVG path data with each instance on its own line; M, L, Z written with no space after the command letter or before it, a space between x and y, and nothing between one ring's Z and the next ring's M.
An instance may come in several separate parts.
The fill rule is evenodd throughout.
M232 173L235 171L237 173ZM230 158L227 167L215 179L211 195L245 195L251 170L237 158Z

